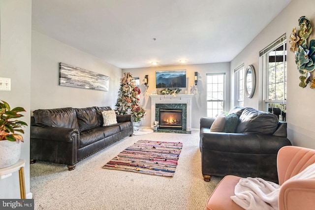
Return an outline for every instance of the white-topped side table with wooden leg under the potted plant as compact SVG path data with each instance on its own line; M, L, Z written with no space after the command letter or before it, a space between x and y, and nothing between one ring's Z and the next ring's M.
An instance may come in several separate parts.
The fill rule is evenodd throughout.
M4 179L5 177L7 177L5 175L12 174L13 172L16 172L16 171L19 170L21 199L26 199L25 180L24 180L24 166L25 166L25 160L20 159L17 163L15 163L12 166L0 169L0 177L1 177L1 179Z

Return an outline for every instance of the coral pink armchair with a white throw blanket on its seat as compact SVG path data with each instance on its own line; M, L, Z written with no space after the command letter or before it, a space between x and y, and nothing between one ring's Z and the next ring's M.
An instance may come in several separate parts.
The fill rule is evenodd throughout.
M315 179L288 180L315 163L315 150L285 146L277 156L279 210L310 210L315 207ZM241 177L225 176L206 204L206 210L243 210L230 197Z

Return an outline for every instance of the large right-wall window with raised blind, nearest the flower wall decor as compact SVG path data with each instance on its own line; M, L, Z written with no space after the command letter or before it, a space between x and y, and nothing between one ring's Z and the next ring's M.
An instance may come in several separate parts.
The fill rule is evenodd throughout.
M260 52L264 72L264 109L285 121L286 113L286 36Z

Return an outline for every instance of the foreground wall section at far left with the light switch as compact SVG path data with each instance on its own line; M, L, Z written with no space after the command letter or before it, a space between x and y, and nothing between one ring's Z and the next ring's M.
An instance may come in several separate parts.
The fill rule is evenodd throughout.
M30 124L32 0L0 0L0 77L11 78L11 91L0 100L27 110L21 118ZM26 160L25 185L30 194L30 127L24 129L21 158ZM0 198L20 198L18 172L0 180Z

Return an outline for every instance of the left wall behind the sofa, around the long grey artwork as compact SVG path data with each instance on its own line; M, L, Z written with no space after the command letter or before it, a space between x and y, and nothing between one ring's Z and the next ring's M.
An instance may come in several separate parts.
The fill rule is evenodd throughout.
M109 76L109 91L59 86L59 62ZM90 106L114 108L122 69L32 31L31 110Z

